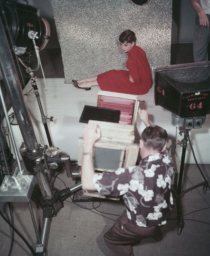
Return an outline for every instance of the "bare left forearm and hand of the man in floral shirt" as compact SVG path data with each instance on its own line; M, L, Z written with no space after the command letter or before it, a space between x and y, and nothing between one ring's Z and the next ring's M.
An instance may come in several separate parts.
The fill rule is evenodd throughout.
M96 140L100 138L100 129L97 124L88 124L83 130L83 156L81 168L82 188L95 190L93 183L94 165L93 165L93 147Z

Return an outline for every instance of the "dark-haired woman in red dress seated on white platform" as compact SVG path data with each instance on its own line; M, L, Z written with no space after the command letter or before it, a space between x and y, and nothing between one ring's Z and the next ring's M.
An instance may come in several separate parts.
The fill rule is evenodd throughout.
M136 35L131 30L119 36L122 51L127 53L126 70L109 70L94 77L72 80L78 89L91 90L98 85L103 91L142 95L152 87L151 69L145 52L136 45Z

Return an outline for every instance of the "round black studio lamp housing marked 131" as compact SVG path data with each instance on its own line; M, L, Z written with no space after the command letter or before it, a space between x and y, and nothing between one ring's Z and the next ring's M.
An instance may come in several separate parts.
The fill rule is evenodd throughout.
M50 37L50 26L47 20L40 17L38 9L14 1L4 1L1 9L0 17L10 46L13 44L16 55L34 51L32 40L28 36L30 31L37 32L35 42L39 51L45 48Z

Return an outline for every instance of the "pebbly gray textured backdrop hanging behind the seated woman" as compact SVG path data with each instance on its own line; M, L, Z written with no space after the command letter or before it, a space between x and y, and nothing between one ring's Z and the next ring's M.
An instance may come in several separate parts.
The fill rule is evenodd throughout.
M65 83L110 69L126 69L119 35L137 35L151 68L170 64L172 0L51 0Z

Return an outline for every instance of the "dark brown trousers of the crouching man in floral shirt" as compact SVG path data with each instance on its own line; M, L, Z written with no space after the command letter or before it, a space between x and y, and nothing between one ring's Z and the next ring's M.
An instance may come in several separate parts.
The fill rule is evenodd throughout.
M139 227L131 222L126 210L116 220L115 224L104 235L106 245L116 256L132 255L132 244L140 242L141 239L158 236L160 227Z

